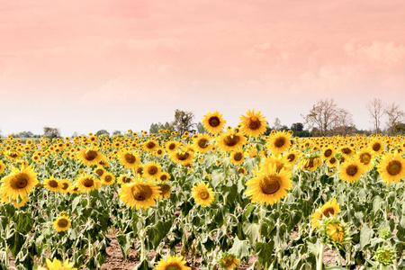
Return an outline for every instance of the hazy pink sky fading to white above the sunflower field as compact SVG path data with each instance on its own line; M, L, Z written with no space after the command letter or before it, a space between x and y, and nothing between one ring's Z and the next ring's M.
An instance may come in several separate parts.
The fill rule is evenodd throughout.
M272 125L334 98L372 127L373 97L405 109L405 2L0 1L0 130L148 130L248 109Z

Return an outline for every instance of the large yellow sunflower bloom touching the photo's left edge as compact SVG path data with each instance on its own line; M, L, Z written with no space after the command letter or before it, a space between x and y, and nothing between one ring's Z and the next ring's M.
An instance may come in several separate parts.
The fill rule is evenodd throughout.
M34 186L38 184L37 174L33 172L32 166L22 166L21 170L13 167L11 174L5 176L0 182L3 182L0 193L15 200L18 197L27 196Z

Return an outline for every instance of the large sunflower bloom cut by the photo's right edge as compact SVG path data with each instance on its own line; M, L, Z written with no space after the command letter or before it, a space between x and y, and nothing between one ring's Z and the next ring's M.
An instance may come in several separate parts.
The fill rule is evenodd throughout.
M405 159L398 153L388 153L383 156L377 170L385 183L399 183L405 177Z

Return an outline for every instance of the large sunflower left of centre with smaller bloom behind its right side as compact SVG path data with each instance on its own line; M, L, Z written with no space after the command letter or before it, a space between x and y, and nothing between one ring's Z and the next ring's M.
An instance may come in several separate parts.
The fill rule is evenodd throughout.
M135 183L121 186L120 199L130 208L135 206L136 210L139 208L148 209L156 204L159 194L160 187L155 186L152 179L148 179L147 182L136 179Z

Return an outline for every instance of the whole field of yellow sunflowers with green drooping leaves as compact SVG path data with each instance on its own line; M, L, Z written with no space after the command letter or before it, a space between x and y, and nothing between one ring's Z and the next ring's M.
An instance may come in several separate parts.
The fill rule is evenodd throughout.
M0 142L0 268L402 269L405 137L208 133ZM328 259L326 255L328 254Z

